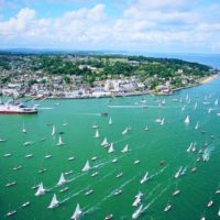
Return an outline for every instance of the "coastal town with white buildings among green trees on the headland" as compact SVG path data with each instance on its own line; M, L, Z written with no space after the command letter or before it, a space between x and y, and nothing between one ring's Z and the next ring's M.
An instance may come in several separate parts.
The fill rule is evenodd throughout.
M168 58L107 54L0 54L0 94L33 98L172 95L218 74Z

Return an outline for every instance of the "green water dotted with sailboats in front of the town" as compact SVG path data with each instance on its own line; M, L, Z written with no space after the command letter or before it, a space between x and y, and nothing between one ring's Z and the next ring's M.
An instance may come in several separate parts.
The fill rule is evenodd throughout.
M154 220L196 220L202 215L207 219L218 219L220 196L216 195L220 183L220 106L215 106L215 100L220 101L220 80L183 90L170 97L144 96L148 108L140 108L143 97L124 97L116 99L90 99L90 100L45 100L36 101L42 108L36 116L0 116L0 138L8 141L0 142L0 219L7 219L7 212L16 210L11 217L19 220L44 220L44 219L70 219L77 202L85 215L80 219L101 220L108 213L113 213L114 219L132 219L136 209L132 207L134 196L141 190L145 211L139 219ZM186 96L190 103L186 103ZM204 105L204 97L208 97L210 105ZM173 99L183 99L180 103ZM157 101L165 99L166 105L157 108ZM59 105L55 105L55 103ZM195 102L198 103L194 110ZM110 106L123 106L123 108L109 108ZM185 111L182 107L185 105ZM48 109L43 109L48 108ZM207 109L212 108L210 114ZM113 124L108 125L109 117L100 117L100 112L108 112ZM186 125L184 120L190 116L190 123ZM165 118L164 125L155 123L155 119ZM199 129L195 125L199 121ZM25 124L28 133L22 133L22 124ZM94 123L99 124L100 139L94 139ZM52 133L52 125L56 127L56 134ZM64 127L63 123L68 123ZM150 131L144 131L145 125ZM125 127L132 130L122 135ZM201 132L204 131L204 132ZM65 145L56 146L58 132ZM215 139L211 139L211 135ZM109 154L107 148L100 146L103 138L114 143L114 152ZM42 141L45 139L45 141ZM33 144L24 146L23 143L32 141ZM187 153L190 142L197 143L195 153ZM210 153L208 163L202 160L195 163L198 151L205 148ZM125 144L131 150L121 153ZM11 153L10 157L3 155ZM34 154L25 158L26 154ZM51 158L44 158L51 154ZM74 161L68 161L75 156ZM97 156L97 161L91 157ZM200 155L201 157L201 155ZM112 163L118 158L118 163ZM88 173L82 173L86 161L89 160L94 167ZM134 161L141 163L134 165ZM164 165L160 165L165 161ZM196 164L197 172L191 173ZM22 165L19 170L14 166ZM175 178L179 167L186 167L186 175ZM38 174L37 170L46 168ZM65 186L69 187L66 193L59 193L62 187L56 187L59 176L65 172L73 174L65 176L68 180ZM140 180L145 172L152 178L141 185ZM98 172L99 175L90 175ZM117 174L123 172L121 178ZM6 187L9 182L15 180L13 187ZM34 196L33 185L43 182L47 193L43 196ZM173 197L176 189L180 194ZM85 196L88 187L94 194ZM112 196L120 188L122 194ZM48 209L53 194L56 194L61 205ZM207 208L209 200L213 206ZM20 208L25 201L31 201L26 208ZM173 205L172 210L164 212L167 202Z

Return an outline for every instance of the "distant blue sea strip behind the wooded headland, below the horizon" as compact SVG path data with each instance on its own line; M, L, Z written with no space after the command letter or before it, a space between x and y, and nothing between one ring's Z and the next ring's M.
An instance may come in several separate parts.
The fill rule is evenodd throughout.
M144 53L129 52L129 55L143 55L150 57L179 58L187 62L196 62L220 69L220 54L176 54L176 53Z

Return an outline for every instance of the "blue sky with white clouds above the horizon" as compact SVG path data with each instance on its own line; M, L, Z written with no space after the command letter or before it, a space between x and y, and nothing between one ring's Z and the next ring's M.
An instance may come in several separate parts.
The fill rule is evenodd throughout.
M0 0L0 50L220 53L220 0Z

